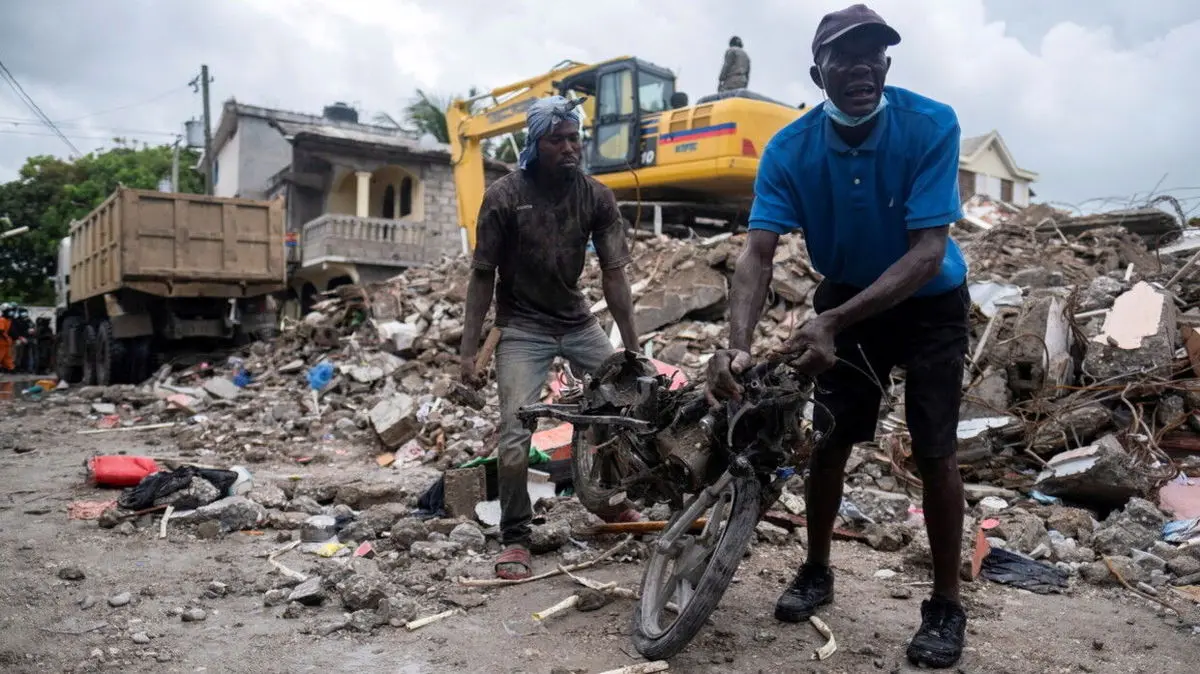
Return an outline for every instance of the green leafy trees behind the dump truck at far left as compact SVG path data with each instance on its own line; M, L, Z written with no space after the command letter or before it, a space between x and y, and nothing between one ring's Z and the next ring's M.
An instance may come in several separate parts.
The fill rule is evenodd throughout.
M28 305L54 303L54 270L59 240L71 222L88 215L118 185L156 189L170 179L170 145L136 145L114 139L114 148L74 162L41 155L29 157L17 180L0 185L0 230L29 227L25 234L0 240L0 300ZM193 170L199 155L181 149L180 191L204 192L204 176Z

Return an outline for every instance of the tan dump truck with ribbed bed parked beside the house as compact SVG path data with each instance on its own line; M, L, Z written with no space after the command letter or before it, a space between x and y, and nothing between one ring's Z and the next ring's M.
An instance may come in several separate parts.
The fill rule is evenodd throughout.
M60 242L58 375L140 383L180 351L268 337L286 288L282 200L118 187Z

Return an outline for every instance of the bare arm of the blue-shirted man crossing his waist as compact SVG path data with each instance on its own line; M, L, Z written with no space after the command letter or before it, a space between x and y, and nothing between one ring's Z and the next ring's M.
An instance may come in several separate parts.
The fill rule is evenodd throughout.
M942 269L949 230L949 225L910 230L907 253L862 293L826 312L835 332L899 305L932 281Z

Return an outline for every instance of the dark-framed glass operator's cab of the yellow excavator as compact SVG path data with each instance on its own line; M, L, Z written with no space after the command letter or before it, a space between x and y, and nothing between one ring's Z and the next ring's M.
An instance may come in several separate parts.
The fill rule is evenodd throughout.
M601 64L558 83L566 96L582 94L593 98L593 118L586 120L586 169L590 174L625 171L653 166L654 137L643 139L665 110L686 106L676 95L674 74L641 59Z

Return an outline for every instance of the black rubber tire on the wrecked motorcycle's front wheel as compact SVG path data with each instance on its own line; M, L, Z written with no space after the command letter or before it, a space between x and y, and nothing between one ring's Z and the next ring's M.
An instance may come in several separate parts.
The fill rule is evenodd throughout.
M648 601L646 585L652 582L649 578L650 561L658 554L652 544L652 559L647 560L646 570L642 573L642 598L638 600L637 607L634 609L632 631L634 648L648 660L666 660L691 643L720 603L725 590L728 589L730 582L733 579L733 573L745 555L751 537L755 535L762 500L762 486L758 479L754 476L733 477L730 486L733 488L733 503L730 505L725 530L721 532L721 538L696 585L692 600L688 602L688 606L680 608L674 622L658 636L647 633L642 619L642 603ZM684 510L679 510L672 516L667 529L684 513ZM656 582L656 579L653 580Z

